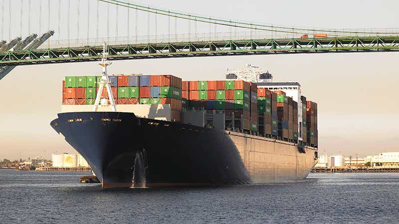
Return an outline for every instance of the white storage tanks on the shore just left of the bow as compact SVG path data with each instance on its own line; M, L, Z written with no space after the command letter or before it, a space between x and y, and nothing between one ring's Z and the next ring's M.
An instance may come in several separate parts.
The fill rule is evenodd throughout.
M80 154L59 153L51 155L53 167L89 167Z

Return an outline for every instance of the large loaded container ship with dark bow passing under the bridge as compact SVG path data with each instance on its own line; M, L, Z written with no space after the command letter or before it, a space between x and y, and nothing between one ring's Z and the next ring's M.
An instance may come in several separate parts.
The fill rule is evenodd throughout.
M276 183L317 162L317 104L246 65L221 81L68 76L50 125L103 188ZM252 80L248 80L252 79Z

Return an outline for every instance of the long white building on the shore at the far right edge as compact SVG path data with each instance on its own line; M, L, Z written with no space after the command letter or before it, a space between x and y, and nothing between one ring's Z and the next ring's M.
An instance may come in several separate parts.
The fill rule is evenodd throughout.
M367 156L365 163L378 168L399 168L399 152L382 152L378 155Z

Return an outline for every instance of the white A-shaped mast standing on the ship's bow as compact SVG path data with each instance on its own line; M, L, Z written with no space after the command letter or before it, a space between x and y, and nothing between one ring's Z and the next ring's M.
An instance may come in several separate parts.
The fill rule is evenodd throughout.
M99 87L98 87L98 91L97 91L97 96L96 96L96 101L94 102L94 106L93 106L93 112L96 112L98 109L98 105L100 104L100 99L101 99L101 94L103 92L103 88L107 88L107 92L108 92L108 97L109 97L109 102L110 102L110 106L112 108L113 112L116 112L116 107L115 107L115 102L114 102L114 96L112 94L111 91L111 85L110 85L110 81L108 78L108 74L107 74L107 66L111 64L111 62L107 61L107 56L106 56L106 46L107 43L104 42L103 45L103 58L101 59L101 62L98 63L101 67L103 67L103 73L101 76L101 80L98 83Z

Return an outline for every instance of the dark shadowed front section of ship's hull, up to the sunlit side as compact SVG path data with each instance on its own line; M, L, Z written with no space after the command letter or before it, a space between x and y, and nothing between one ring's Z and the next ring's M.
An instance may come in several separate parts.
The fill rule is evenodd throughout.
M129 112L59 113L51 126L87 160L103 188L252 182L223 131Z

